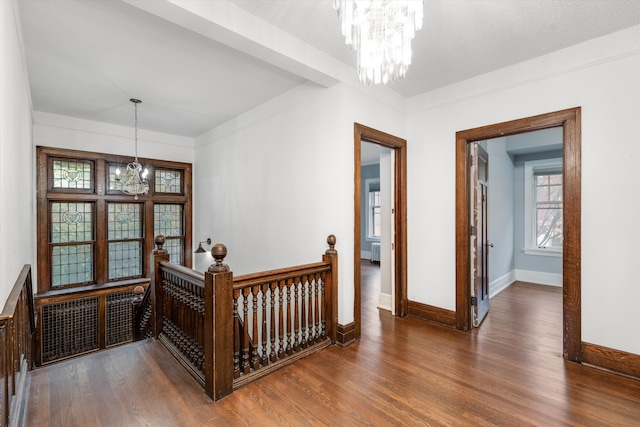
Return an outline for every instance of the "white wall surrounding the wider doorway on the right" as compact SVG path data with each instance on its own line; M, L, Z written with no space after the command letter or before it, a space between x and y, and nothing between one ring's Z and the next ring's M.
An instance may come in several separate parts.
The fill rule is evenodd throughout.
M640 26L408 101L411 300L455 309L456 131L578 106L582 340L640 354Z

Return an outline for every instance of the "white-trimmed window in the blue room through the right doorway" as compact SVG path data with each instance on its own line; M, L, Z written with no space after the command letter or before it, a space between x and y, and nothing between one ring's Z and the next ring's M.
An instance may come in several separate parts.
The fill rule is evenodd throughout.
M562 254L562 159L525 162L525 252Z

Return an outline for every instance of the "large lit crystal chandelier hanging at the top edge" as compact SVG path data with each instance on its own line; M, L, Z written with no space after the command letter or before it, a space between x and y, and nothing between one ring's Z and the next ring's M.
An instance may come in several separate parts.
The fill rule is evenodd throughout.
M422 28L423 0L334 0L342 35L356 51L365 85L401 79L411 64L411 40Z

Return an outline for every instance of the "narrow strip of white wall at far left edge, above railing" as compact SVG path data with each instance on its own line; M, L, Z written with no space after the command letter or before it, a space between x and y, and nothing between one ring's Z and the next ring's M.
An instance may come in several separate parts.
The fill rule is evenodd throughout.
M22 266L35 268L31 96L16 11L0 1L0 310Z

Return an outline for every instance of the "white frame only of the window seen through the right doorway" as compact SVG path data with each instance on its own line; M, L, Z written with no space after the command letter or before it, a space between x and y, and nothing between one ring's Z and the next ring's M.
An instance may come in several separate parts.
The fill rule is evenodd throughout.
M563 173L562 158L530 160L524 162L524 253L562 257L562 246L538 247L536 175ZM564 180L563 180L564 185ZM564 210L564 206L562 207ZM564 213L564 212L563 212Z

